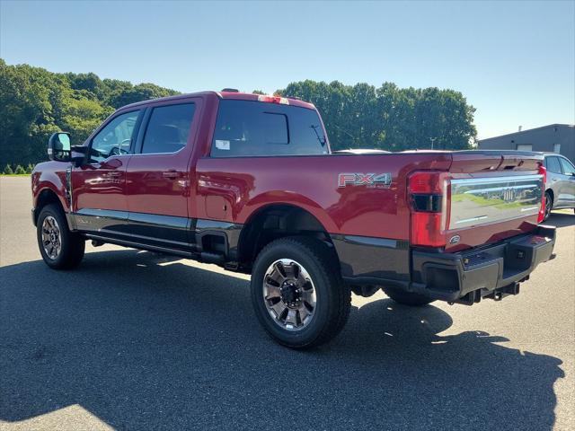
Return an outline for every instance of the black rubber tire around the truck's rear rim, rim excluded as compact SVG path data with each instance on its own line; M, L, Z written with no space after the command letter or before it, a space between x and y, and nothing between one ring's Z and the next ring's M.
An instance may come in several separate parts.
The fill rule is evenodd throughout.
M263 299L263 277L270 265L279 259L293 259L309 273L314 283L315 310L313 320L302 330L283 330L268 312ZM329 321L330 306L333 301L332 280L322 268L320 262L297 242L277 242L261 251L252 271L252 303L258 319L270 335L281 344L290 347L305 347L320 337L324 325Z

